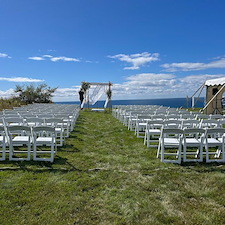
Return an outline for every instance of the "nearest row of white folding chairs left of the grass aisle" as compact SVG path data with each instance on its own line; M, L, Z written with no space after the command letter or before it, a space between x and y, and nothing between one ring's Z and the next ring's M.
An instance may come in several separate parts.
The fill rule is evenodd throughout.
M40 147L40 146L45 146ZM57 152L56 132L49 126L0 126L0 160L54 161ZM39 149L41 148L41 149Z

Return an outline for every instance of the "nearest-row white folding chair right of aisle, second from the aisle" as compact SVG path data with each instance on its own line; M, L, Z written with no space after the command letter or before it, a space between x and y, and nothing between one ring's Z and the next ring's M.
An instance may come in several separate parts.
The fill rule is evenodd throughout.
M201 128L186 128L183 136L183 161L202 162L205 130Z

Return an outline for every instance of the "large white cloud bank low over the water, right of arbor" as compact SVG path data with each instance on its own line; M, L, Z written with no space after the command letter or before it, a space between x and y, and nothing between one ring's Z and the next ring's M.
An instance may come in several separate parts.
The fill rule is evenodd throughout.
M224 74L190 75L177 77L174 74L136 74L125 82L114 84L113 99L182 98L192 96L208 79L224 77ZM204 92L202 96L204 96Z

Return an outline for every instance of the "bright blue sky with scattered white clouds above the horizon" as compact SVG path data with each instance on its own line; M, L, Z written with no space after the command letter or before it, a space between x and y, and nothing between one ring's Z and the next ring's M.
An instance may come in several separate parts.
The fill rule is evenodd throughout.
M113 99L191 96L225 76L224 12L224 0L1 0L0 97L44 82L76 101L82 81L111 81Z

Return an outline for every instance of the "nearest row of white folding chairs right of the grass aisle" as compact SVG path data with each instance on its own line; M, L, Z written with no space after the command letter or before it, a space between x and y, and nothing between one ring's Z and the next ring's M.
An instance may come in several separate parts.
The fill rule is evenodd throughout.
M163 128L157 158L162 162L225 162L224 128Z

